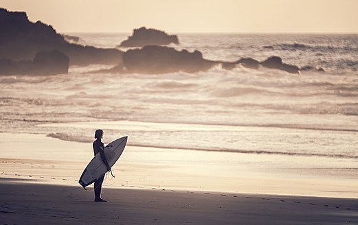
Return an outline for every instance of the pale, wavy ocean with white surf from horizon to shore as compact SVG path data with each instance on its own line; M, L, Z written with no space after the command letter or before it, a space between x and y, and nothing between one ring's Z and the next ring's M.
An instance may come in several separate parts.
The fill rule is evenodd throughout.
M83 45L115 47L130 34L72 35ZM178 37L180 44L170 47L199 50L210 60L279 56L325 72L238 65L198 73L90 73L109 68L98 64L70 67L65 75L1 76L0 132L91 143L102 128L105 143L128 136L128 145L168 151L344 159L357 176L358 34Z

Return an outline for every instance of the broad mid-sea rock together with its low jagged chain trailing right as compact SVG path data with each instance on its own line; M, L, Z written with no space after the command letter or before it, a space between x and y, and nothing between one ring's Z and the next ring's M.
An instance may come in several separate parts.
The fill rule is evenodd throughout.
M141 49L129 49L124 52L122 62L112 69L94 71L94 73L173 73L208 71L216 64L221 64L223 69L234 69L237 64L251 69L259 69L260 66L271 69L280 69L289 73L300 74L300 68L285 64L277 56L258 62L253 58L240 58L236 62L212 61L203 58L200 51L177 51L172 47L146 45Z

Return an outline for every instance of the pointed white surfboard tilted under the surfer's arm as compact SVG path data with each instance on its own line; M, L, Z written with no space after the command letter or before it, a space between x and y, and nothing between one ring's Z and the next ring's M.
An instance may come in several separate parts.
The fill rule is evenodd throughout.
M112 141L106 147L104 147L104 155L106 156L107 162L110 167L112 167L115 162L118 161L118 158L120 158L124 147L126 147L127 138L128 137L121 137L120 139ZM84 189L86 189L88 185L91 185L93 182L98 180L98 178L104 176L106 172L107 167L103 163L101 155L98 152L98 154L96 154L96 156L92 158L91 162L89 162L78 182L80 183L80 185L82 185Z

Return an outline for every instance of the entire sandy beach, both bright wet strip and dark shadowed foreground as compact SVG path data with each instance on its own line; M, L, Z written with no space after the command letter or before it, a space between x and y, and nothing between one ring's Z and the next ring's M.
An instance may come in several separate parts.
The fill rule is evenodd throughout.
M90 143L39 134L0 137L1 224L358 223L354 180L265 177L249 169L245 161L252 158L245 157L235 165L239 173L231 171L230 160L210 169L210 152L194 152L192 163L173 160L188 152L170 150L172 156L166 156L150 147L127 146L113 167L116 177L104 180L102 198L109 202L93 202L93 187L85 191L78 185L92 157ZM21 141L11 145L16 139ZM161 161L153 158L157 154Z

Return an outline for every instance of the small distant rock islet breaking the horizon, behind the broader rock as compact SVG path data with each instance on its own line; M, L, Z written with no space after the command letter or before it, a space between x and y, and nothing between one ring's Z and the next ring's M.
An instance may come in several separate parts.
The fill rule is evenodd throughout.
M170 43L179 44L176 35L168 35L157 29L146 29L140 27L133 29L132 36L127 40L122 41L119 47L143 47L145 45L169 45Z

